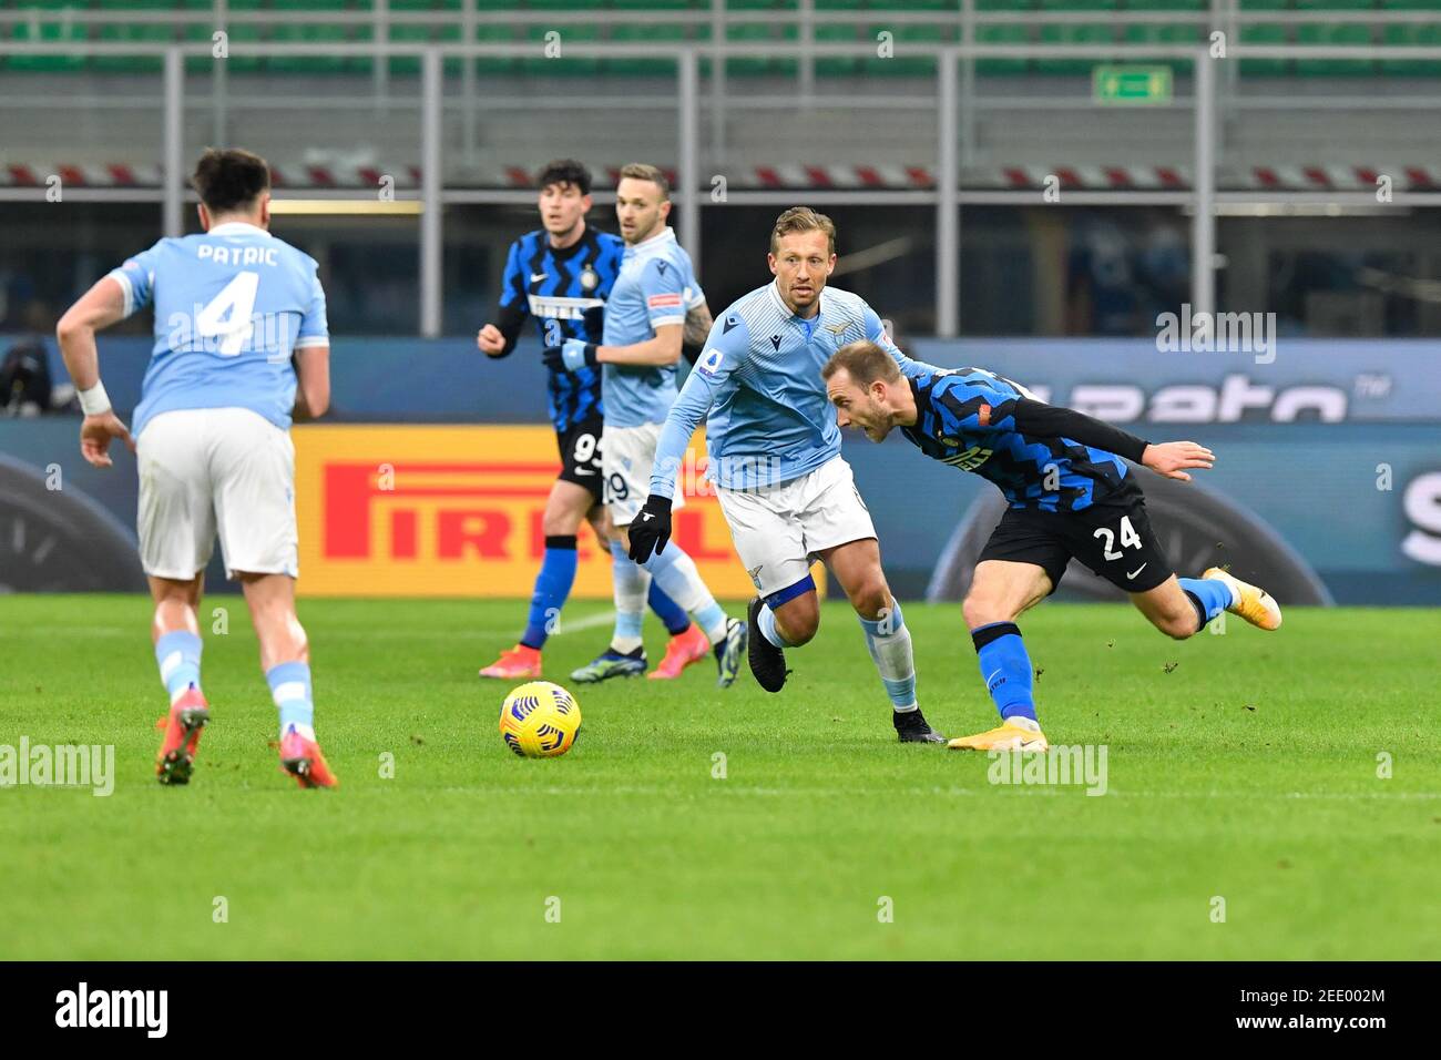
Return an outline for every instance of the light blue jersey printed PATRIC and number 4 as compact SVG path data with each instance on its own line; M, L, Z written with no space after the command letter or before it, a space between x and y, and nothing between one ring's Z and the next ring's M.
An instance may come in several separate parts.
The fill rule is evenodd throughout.
M131 424L177 408L249 408L281 428L295 404L290 356L330 345L314 258L232 222L161 239L111 273L125 316L154 303L156 346Z

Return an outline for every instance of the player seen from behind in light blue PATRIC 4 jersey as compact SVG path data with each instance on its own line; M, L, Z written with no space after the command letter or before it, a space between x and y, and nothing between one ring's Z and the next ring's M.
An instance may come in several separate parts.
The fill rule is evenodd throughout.
M210 720L196 609L219 532L226 574L245 593L280 710L281 769L301 787L333 787L313 728L310 645L295 617L288 433L293 415L313 418L330 404L326 294L314 260L267 231L264 159L208 150L192 183L203 234L137 254L91 287L56 329L85 411L85 460L110 467L115 438L138 453L140 558L156 601L156 662L170 694L156 774L161 783L187 783ZM150 304L156 346L131 441L99 379L95 332Z

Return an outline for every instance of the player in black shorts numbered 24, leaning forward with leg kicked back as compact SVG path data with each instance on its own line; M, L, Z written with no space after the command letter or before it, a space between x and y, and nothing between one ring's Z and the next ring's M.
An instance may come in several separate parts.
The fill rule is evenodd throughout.
M990 479L1010 502L961 604L1001 724L951 740L953 748L1048 748L1016 619L1056 590L1071 558L1127 591L1156 629L1177 640L1223 610L1261 629L1281 626L1281 609L1268 593L1218 567L1199 578L1172 573L1125 464L1133 460L1190 482L1192 470L1213 464L1209 449L1195 441L1148 444L1084 412L1038 401L983 368L905 378L870 342L836 350L821 375L842 427L862 430L872 441L899 427L922 453Z

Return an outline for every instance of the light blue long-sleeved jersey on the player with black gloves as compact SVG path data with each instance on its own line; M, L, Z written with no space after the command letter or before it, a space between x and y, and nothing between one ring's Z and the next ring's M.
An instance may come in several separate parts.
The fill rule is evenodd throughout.
M666 417L650 492L672 496L703 417L706 474L725 489L777 486L839 456L840 428L820 369L831 353L860 339L879 343L908 376L940 371L896 349L859 294L826 287L820 313L808 320L787 309L774 283L744 296L710 327L705 352Z

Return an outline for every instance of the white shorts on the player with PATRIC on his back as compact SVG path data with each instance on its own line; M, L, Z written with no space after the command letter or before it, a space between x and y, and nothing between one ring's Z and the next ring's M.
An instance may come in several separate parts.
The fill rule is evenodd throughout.
M248 408L184 408L147 423L135 446L146 574L193 578L218 531L226 577L300 573L288 431Z

